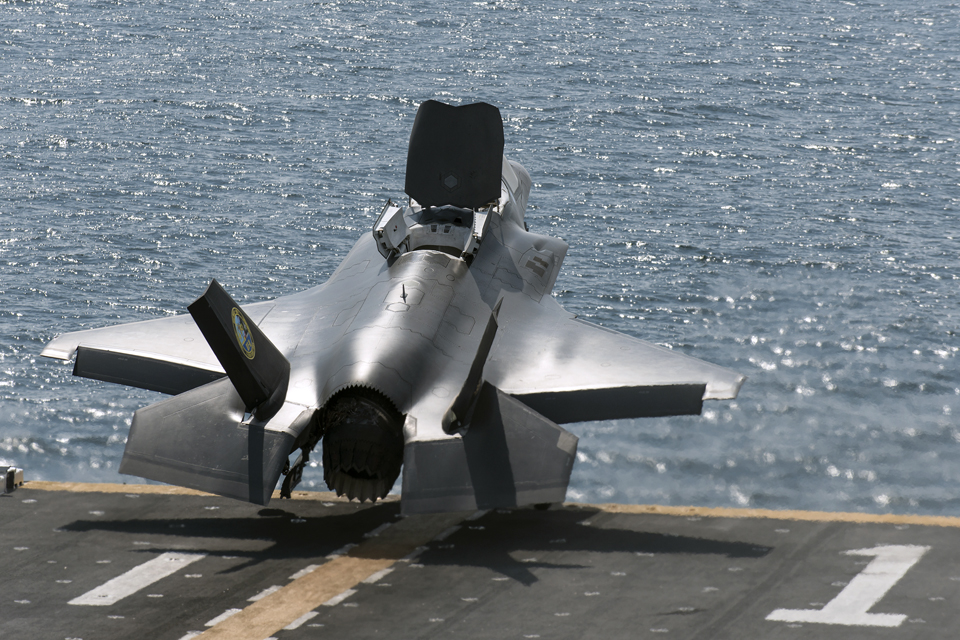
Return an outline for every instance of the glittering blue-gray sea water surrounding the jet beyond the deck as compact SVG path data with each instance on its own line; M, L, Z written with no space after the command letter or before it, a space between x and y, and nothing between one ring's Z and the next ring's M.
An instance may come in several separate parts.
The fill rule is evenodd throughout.
M420 102L496 104L555 294L736 369L571 425L568 499L960 515L960 4L0 0L0 464L119 482L163 396L56 335L321 284ZM323 488L320 469L305 485Z

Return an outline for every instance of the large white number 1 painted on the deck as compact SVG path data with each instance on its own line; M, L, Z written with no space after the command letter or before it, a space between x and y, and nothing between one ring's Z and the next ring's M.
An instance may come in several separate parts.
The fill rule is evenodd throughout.
M777 609L767 616L767 620L899 627L907 616L867 611L877 604L929 549L930 547L917 545L886 545L873 549L844 551L846 555L874 558L823 609Z

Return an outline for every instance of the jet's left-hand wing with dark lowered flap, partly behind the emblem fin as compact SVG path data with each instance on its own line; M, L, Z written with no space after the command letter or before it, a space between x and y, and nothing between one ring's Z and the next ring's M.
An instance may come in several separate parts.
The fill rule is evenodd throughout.
M272 302L244 307L261 322ZM177 395L224 376L189 314L65 333L40 355L69 360L73 374Z

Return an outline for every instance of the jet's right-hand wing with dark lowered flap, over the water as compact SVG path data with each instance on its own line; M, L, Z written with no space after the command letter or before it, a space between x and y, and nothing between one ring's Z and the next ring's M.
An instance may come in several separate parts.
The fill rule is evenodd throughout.
M484 379L551 421L697 415L732 399L735 371L579 320L549 296L511 297Z

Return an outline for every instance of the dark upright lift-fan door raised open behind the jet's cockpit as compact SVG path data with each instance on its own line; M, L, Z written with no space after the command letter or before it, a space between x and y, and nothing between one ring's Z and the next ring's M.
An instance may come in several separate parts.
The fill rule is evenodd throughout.
M499 109L427 100L410 133L404 191L424 207L479 209L500 197L502 162Z

